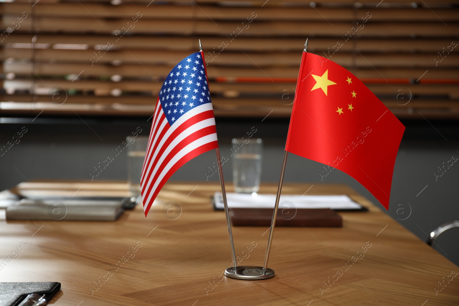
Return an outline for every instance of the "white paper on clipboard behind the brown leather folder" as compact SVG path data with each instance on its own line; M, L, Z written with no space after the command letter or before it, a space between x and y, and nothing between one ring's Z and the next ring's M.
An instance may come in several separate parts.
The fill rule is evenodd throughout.
M229 208L274 208L275 195L226 193ZM224 209L221 192L213 195L215 209ZM364 206L354 202L347 195L281 195L280 208L330 208L334 210L358 211L366 210Z

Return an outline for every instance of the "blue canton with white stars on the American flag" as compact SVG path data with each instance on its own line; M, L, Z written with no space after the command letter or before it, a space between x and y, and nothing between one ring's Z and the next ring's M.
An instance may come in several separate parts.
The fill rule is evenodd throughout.
M159 101L170 125L196 106L211 103L201 52L184 58L171 70L162 84Z

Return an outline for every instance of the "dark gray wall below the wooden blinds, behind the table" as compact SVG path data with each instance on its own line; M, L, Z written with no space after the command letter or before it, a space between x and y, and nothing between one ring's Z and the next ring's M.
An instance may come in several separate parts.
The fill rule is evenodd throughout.
M26 127L27 132L18 144L0 157L0 189L10 188L26 179L90 179L93 167L111 155L112 150L121 145L136 127L143 129L141 135L148 135L150 129L146 118L84 118L84 122L78 118L37 118L34 122L28 118L1 118L1 146L6 145L22 127ZM459 219L459 163L454 163L437 180L433 174L451 156L459 156L459 127L454 121L430 121L435 128L426 121L403 123L407 129L397 155L387 213L425 241L427 234L440 223ZM224 154L233 137L243 136L253 126L257 128L253 137L264 141L262 181L278 182L288 121L220 119L217 121L220 150ZM203 172L213 161L213 151L202 154L181 167L171 180L204 181ZM123 152L95 179L126 179L126 162L127 154ZM232 180L231 162L224 164L226 182ZM290 154L285 182L319 183L318 172L322 167L317 162ZM218 176L209 180L218 181ZM333 170L322 182L348 184L385 211L364 187L339 170ZM458 241L459 229L450 230L438 240L436 250L459 264Z

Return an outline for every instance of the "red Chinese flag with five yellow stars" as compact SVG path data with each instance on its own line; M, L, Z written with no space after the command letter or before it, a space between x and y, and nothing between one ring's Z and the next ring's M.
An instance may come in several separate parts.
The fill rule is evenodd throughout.
M303 52L285 150L346 172L388 209L404 130L351 72Z

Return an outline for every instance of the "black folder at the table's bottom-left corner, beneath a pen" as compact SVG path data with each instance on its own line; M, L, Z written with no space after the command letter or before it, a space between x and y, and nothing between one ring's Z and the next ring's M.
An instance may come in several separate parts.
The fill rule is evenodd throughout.
M50 301L53 295L61 289L61 283L0 283L0 306L17 306L29 294L36 293Z

